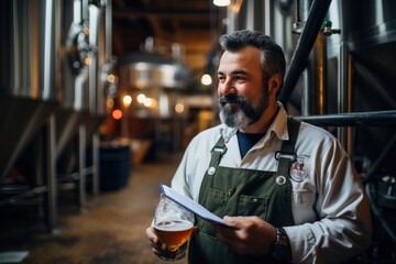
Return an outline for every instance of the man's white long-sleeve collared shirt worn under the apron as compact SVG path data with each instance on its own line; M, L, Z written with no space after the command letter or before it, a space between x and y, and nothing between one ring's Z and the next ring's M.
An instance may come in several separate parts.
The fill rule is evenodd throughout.
M198 201L211 153L222 131L228 151L220 166L277 169L274 157L288 140L287 113L279 111L265 136L241 158L235 129L223 124L199 133L188 145L172 180L177 191ZM364 188L346 153L329 132L302 122L292 166L293 216L285 227L294 263L337 263L362 252L371 239L371 215Z

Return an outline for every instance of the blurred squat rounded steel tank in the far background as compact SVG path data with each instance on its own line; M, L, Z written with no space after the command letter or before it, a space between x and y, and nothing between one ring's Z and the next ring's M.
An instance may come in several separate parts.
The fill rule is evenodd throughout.
M170 95L183 92L191 81L187 67L180 62L146 51L121 57L117 73L120 91L134 97L131 108L136 116L170 117L175 107ZM141 92L154 98L158 107L140 108L135 97Z

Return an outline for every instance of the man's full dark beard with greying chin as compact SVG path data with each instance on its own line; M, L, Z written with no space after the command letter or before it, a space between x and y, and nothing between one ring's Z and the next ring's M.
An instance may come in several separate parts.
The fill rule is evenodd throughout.
M219 102L219 117L220 121L229 128L246 128L260 120L264 111L268 107L267 97L263 98L257 107L253 107L244 99L240 102L240 106L222 105Z

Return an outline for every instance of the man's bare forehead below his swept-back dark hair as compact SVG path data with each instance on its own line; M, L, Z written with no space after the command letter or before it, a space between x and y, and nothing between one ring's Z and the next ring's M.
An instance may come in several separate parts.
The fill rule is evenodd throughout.
M224 74L233 70L261 73L260 58L260 50L253 46L238 51L226 51L220 59L219 72Z

